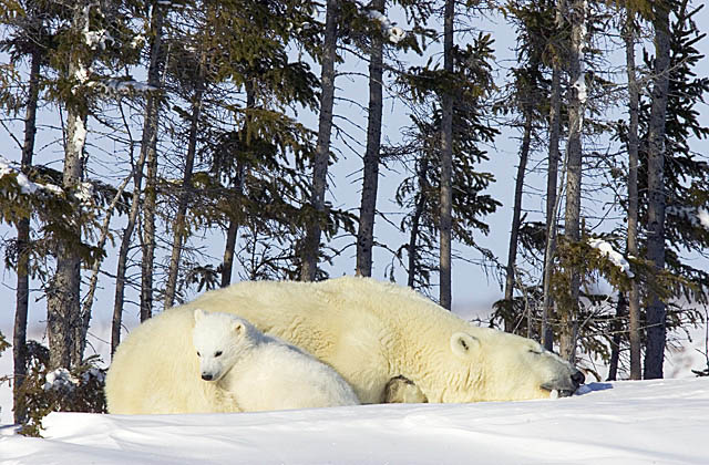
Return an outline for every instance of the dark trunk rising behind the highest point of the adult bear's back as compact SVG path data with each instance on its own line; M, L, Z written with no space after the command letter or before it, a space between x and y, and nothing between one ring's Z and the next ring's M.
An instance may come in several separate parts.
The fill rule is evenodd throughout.
M384 0L373 0L370 8L384 12ZM367 120L367 151L362 179L362 199L357 231L357 275L372 275L372 244L374 241L374 214L379 183L379 151L381 146L382 113L382 39L372 38L369 59L369 116Z

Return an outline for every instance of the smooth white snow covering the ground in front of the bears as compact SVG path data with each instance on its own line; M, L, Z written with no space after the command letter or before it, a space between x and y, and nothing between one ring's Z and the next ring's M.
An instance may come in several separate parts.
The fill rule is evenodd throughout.
M548 401L192 415L52 413L11 464L706 464L709 378L592 383Z

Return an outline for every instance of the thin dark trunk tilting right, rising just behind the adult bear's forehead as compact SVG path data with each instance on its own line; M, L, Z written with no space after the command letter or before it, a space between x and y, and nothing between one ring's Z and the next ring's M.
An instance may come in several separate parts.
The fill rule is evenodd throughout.
M530 143L532 141L532 111L525 103L524 112L524 134L522 136L522 147L520 149L520 165L517 166L517 178L514 187L514 209L512 211L512 230L510 231L510 248L507 250L507 276L505 281L505 304L508 306L510 314L514 313L514 282L515 261L517 259L517 237L522 220L522 190L524 189L524 175L527 169L527 157L530 155ZM512 332L514 324L511 319L505 319L505 331Z

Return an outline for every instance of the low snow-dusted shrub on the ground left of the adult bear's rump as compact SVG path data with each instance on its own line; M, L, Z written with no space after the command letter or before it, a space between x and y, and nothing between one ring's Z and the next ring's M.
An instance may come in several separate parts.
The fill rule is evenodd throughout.
M42 418L50 412L106 412L105 370L96 366L99 355L88 358L72 370L50 370L45 347L29 341L27 348L27 378L19 391L27 409L27 423L22 425L21 434L39 436Z

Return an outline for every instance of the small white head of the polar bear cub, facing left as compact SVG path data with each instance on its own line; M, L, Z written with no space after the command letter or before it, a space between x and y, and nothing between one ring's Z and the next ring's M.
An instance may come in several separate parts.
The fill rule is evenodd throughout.
M192 342L205 381L219 381L250 343L250 326L228 313L194 311Z

